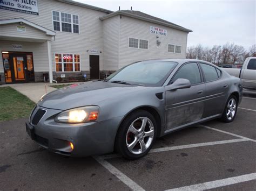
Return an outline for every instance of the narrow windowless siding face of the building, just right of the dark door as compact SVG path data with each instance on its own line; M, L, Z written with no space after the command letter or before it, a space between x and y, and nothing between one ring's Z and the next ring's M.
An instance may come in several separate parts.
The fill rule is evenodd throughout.
M103 21L104 70L117 70L119 62L119 16Z

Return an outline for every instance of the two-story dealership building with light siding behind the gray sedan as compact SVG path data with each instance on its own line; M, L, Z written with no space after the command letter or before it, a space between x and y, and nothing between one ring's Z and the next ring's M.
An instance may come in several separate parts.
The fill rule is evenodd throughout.
M129 63L184 59L182 26L68 0L0 0L0 84L99 79Z

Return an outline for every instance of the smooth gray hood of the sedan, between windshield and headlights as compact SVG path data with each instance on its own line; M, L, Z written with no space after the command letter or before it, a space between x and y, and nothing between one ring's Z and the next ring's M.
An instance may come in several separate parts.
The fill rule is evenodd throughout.
M66 110L85 105L97 105L98 102L132 94L146 88L148 87L90 81L52 91L46 94L38 105L50 109Z

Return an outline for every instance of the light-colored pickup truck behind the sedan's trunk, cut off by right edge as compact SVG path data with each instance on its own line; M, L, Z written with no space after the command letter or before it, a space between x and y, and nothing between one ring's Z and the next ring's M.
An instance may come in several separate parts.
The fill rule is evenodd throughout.
M242 68L223 68L228 74L240 77L245 89L256 90L256 57L245 59Z

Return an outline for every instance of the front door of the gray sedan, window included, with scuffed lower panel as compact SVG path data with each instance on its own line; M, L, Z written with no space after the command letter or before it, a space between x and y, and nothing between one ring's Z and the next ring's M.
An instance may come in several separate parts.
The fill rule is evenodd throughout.
M198 121L204 114L205 83L198 63L185 63L170 84L180 78L190 80L191 87L166 91L166 132Z

